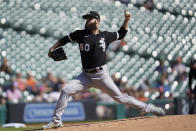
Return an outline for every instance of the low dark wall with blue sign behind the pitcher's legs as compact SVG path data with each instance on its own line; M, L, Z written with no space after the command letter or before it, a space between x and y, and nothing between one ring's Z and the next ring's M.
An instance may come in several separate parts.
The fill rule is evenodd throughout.
M187 98L177 98L174 100L154 100L153 103L166 110L167 115L188 114L189 106ZM51 121L56 103L19 103L0 106L0 124L3 123L42 123ZM106 106L112 110L112 119L123 119L140 116L140 112L133 108L128 108L123 104L104 103L88 101L70 102L62 115L63 121L89 121L97 120L96 107ZM151 114L146 114L151 115ZM107 119L107 118L106 118Z

